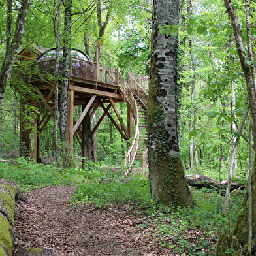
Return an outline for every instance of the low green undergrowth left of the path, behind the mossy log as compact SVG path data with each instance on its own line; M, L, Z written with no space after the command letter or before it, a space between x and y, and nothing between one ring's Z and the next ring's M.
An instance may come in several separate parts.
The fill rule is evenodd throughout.
M22 191L53 185L72 185L74 178L69 169L59 169L56 165L35 164L23 158L16 163L0 162L0 178L15 180Z

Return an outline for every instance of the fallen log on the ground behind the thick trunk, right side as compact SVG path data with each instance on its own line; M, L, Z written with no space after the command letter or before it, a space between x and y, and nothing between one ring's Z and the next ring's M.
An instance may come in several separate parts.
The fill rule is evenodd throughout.
M187 184L191 187L195 187L195 189L206 188L217 189L217 191L226 189L227 180L219 181L200 174L187 175L186 178ZM231 191L235 189L245 189L245 186L239 182L232 182Z

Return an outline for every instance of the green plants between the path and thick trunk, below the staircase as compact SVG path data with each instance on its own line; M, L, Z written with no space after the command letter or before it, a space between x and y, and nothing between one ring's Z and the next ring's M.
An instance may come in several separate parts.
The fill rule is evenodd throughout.
M140 175L121 178L122 172L122 169L113 172L112 169L101 170L99 167L76 171L83 182L76 189L74 202L95 204L98 208L108 204L132 203L152 210L154 204L148 179Z

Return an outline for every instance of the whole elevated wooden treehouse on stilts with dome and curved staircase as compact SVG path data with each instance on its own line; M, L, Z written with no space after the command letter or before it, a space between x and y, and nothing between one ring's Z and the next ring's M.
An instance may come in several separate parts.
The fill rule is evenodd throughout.
M30 157L39 162L40 142L37 131L41 132L46 127L50 118L54 117L54 75L56 50L48 50L39 46L33 46L22 50L18 57L16 79L22 77L25 84L32 86L37 94L35 97L24 95L25 101L21 103L22 116L20 122L20 155L23 149L28 148ZM143 168L146 167L146 105L148 101L148 77L128 73L125 80L117 68L101 65L98 61L93 62L83 52L72 49L72 61L69 76L67 133L69 148L72 153L74 136L79 136L82 145L82 157L87 157L85 116L89 112L93 116L97 108L103 108L104 112L99 121L91 128L94 134L105 116L110 118L120 135L125 140L133 138L131 147L125 158L127 165L132 165L136 158L140 157ZM29 65L24 65L24 63ZM29 68L27 68L27 66ZM60 63L61 67L61 63ZM27 72L25 72L25 69ZM21 92L22 93L22 92ZM116 103L127 103L127 124L123 123ZM27 128L27 107L37 109L30 125L35 129ZM74 109L82 106L82 113L78 120L74 120ZM111 116L109 110L114 109L119 123ZM133 134L133 122L136 131ZM34 131L33 146L31 145L31 132Z

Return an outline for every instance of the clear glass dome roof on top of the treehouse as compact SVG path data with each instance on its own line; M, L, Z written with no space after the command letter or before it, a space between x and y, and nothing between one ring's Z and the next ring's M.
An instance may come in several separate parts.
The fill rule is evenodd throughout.
M60 57L63 56L63 51L60 52ZM71 49L71 56L73 58L76 58L76 59L82 59L84 61L92 61L91 58L85 54L84 52L80 51L80 50L77 50L77 49L74 49L72 48ZM44 52L43 54L41 54L37 61L48 61L50 59L55 59L56 58L56 48L52 48L46 52Z

